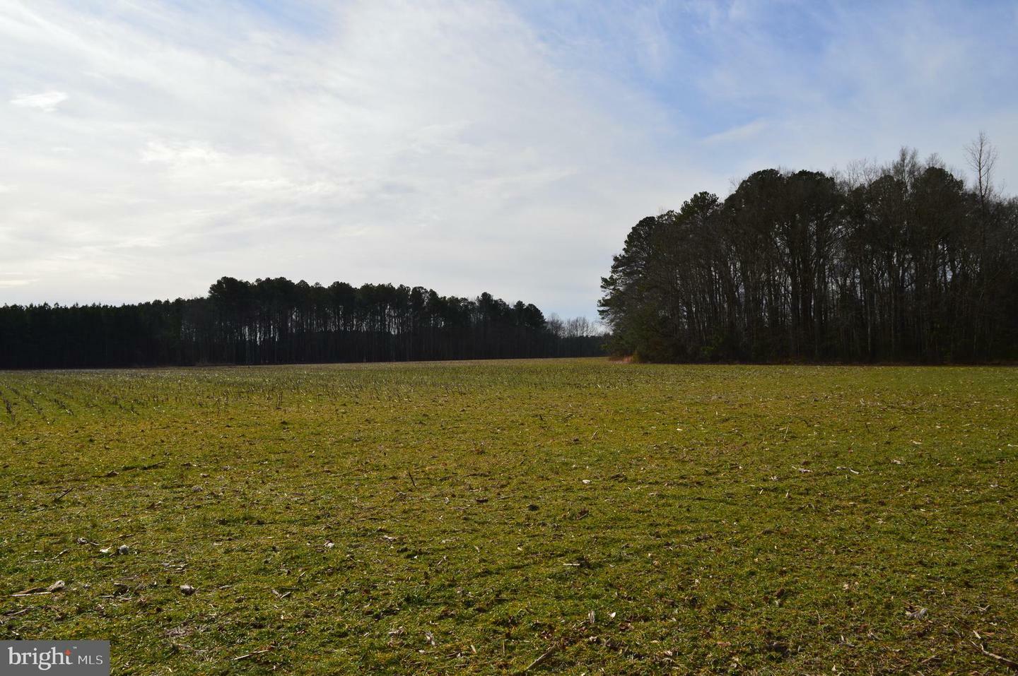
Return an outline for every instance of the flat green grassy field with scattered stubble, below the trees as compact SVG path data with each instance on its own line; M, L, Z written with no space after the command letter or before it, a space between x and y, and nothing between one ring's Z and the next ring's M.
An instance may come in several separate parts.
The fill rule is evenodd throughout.
M1018 662L1015 369L8 372L0 395L0 638L109 638L114 673Z

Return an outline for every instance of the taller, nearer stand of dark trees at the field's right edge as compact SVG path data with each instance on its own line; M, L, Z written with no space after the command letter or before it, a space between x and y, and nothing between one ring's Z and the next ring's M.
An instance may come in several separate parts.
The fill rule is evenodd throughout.
M602 281L611 350L648 361L1018 358L1018 200L980 134L966 185L903 149L759 171L641 220Z

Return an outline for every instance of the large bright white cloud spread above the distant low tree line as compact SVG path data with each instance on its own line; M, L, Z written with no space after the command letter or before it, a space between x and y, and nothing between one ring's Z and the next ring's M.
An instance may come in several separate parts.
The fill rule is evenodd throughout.
M0 182L20 186L0 266L40 280L5 300L282 274L589 314L628 224L681 175L645 180L653 106L619 116L501 4L350 2L310 36L216 7L0 0L0 59L19 57L0 71L75 83L73 118L0 117L18 158Z

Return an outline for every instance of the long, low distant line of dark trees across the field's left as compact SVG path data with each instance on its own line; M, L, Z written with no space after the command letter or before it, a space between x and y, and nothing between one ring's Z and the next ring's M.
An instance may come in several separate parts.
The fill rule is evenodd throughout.
M0 307L0 368L581 357L603 336L490 294L222 278L207 298Z

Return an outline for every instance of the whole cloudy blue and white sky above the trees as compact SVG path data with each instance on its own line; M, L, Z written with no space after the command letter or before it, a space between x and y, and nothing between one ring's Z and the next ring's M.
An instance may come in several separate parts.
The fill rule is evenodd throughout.
M1018 188L1018 2L0 0L0 304L223 275L596 315L639 219L907 145Z

